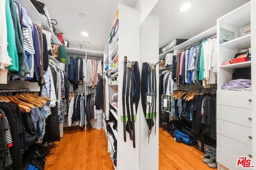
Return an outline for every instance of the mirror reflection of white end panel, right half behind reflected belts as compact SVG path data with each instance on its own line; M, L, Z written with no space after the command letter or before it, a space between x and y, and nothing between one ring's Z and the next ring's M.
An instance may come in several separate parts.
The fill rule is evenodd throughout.
M140 71L142 63L157 63L159 47L159 18L156 16L148 16L140 26ZM157 100L156 110L157 117L154 120L152 133L150 134L148 144L148 124L146 122L141 100L140 100L140 169L141 170L158 170L158 145L159 145L159 76L158 65L156 66L156 84L157 84ZM156 127L156 134L154 134Z

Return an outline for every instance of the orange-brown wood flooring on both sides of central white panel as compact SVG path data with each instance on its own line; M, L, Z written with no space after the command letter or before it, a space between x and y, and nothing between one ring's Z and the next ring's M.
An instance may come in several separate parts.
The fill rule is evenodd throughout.
M46 155L45 170L113 170L104 130L64 128L64 137L54 142ZM176 143L159 128L159 170L207 170L197 147Z

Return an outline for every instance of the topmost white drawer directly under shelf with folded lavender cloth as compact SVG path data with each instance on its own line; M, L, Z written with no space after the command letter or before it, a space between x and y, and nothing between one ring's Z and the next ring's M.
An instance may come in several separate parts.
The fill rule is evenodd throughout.
M217 91L217 104L252 109L251 91Z

